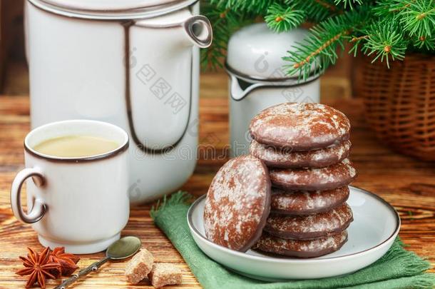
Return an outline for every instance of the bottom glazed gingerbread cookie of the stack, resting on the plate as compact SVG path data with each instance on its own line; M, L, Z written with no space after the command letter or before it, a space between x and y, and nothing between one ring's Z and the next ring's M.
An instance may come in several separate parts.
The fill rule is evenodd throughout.
M339 250L346 241L346 230L313 240L286 240L264 233L252 249L287 257L314 258Z

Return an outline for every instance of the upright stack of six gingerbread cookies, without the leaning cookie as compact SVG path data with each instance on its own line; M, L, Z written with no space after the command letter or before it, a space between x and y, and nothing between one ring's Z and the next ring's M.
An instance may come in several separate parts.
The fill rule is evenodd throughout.
M252 119L252 156L269 168L270 216L255 249L301 258L338 250L352 211L346 201L356 176L349 120L319 103L282 103Z

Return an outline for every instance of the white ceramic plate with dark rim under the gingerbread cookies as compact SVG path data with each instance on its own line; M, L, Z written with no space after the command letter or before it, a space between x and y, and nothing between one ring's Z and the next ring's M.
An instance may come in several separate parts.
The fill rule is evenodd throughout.
M205 238L203 211L205 196L188 212L188 224L199 248L216 262L242 275L260 280L314 279L352 273L378 260L399 233L399 214L373 193L349 186L347 203L354 213L349 240L337 252L319 258L277 258L254 250L240 253Z

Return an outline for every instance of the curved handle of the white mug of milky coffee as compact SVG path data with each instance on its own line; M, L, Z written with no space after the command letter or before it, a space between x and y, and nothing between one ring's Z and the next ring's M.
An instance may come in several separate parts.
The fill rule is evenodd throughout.
M32 177L36 186L44 186L45 177L39 168L24 168L16 174L11 186L11 207L15 218L23 223L36 223L44 217L46 204L39 198L34 199L34 204L29 213L25 213L21 207L21 187L27 178Z

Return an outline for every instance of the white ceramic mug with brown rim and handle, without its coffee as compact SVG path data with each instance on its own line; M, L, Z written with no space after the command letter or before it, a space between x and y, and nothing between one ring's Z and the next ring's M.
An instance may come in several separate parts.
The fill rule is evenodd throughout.
M34 150L42 141L60 136L96 136L119 146L80 158ZM26 168L11 186L15 217L31 223L45 247L63 246L76 254L105 250L128 221L128 144L126 131L101 121L59 121L35 128L24 140ZM25 181L27 213L20 198Z

